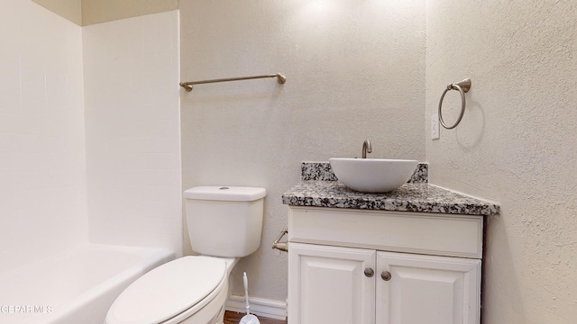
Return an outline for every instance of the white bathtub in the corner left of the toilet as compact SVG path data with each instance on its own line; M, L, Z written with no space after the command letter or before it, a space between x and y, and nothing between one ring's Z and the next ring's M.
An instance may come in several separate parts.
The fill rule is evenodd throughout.
M114 299L165 249L89 244L0 274L0 323L102 324Z

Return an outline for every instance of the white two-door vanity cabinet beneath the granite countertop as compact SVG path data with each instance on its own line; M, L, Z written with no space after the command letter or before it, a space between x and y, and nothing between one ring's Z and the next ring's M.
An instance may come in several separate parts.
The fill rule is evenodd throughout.
M289 324L478 324L482 216L289 208Z

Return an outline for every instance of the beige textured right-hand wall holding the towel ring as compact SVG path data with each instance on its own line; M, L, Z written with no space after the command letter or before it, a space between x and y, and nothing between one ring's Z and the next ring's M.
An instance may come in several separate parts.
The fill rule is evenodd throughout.
M427 120L444 85L472 78L462 124L426 140L431 181L502 206L489 219L485 323L577 318L575 5L427 1Z

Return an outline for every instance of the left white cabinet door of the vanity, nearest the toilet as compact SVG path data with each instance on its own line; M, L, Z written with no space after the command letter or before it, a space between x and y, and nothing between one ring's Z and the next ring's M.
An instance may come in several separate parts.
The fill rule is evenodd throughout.
M365 269L376 274L375 257L362 248L289 243L289 323L373 324L376 275Z

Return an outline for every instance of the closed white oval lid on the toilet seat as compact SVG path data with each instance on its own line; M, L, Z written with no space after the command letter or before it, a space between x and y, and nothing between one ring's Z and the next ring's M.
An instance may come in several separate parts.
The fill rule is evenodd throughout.
M128 286L110 307L105 323L160 323L202 301L225 279L224 260L181 257Z

